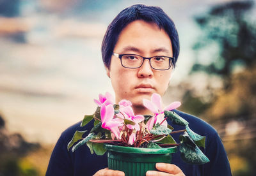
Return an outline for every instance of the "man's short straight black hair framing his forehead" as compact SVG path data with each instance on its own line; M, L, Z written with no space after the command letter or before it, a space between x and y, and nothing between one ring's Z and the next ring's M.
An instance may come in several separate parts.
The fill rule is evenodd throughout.
M143 4L136 4L125 8L114 18L111 24L109 24L101 46L104 65L109 68L111 55L119 34L129 23L135 20L154 22L160 29L164 29L164 31L166 31L172 42L174 57L173 66L175 66L180 51L179 36L175 24L161 8L157 6L146 6Z

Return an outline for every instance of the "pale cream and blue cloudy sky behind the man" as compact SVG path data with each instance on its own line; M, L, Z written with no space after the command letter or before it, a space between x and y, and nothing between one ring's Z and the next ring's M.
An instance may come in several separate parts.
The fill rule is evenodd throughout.
M111 20L132 4L160 6L175 22L180 56L170 86L179 84L194 62L192 45L200 35L193 17L227 2L2 0L0 115L12 133L55 143L61 131L93 114L93 99L113 94L101 58L102 38Z

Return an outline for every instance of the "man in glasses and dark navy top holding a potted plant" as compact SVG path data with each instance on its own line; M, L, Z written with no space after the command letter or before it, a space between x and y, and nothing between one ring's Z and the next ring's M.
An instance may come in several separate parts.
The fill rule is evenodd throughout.
M121 11L109 25L102 42L102 58L115 91L116 103L128 99L134 114L150 114L143 106L143 98L150 99L153 93L163 96L178 55L177 31L161 8L138 4ZM157 163L158 171L148 171L147 175L231 175L218 133L197 117L179 111L177 114L189 122L193 131L206 136L202 151L210 162L188 165L177 153L173 154L173 164ZM79 124L71 126L60 136L46 175L124 175L106 168L106 155L92 155L86 145L75 152L67 151L67 143L76 130L93 126L92 122L84 128L80 128ZM180 126L174 128L179 130ZM179 135L174 138L177 140Z

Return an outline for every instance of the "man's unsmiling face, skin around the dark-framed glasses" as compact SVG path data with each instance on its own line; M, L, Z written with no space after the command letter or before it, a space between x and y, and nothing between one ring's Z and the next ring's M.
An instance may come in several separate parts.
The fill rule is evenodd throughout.
M172 57L172 43L164 29L143 20L131 22L120 33L114 52L116 54L137 54L143 57ZM128 99L133 106L143 106L143 98L150 99L153 93L163 96L172 72L154 70L146 59L140 68L124 68L114 55L107 74L115 91L116 103Z

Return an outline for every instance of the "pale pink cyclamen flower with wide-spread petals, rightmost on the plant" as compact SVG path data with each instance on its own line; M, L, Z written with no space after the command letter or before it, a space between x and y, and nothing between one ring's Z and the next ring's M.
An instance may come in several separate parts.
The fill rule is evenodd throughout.
M148 120L146 127L147 129L150 131L154 124L156 124L158 121L157 119L162 119L163 121L163 116L159 116L159 114L163 114L164 110L173 110L175 108L178 108L181 103L179 101L174 101L173 103L171 103L170 105L166 106L165 108L162 107L162 99L161 96L159 94L152 94L151 101L149 101L148 99L143 99L143 105L148 108L148 110L150 110L151 112L154 112L154 117L152 117L151 119ZM161 122L159 122L161 123ZM167 122L163 122L163 125L167 126Z

